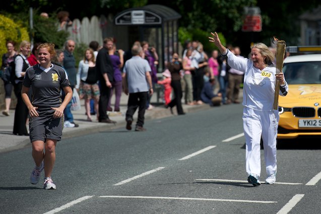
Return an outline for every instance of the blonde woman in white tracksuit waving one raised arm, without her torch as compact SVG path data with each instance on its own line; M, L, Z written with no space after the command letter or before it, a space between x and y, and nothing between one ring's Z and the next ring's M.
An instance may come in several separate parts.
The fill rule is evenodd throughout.
M209 37L227 56L227 63L237 70L243 71L243 128L246 140L245 168L248 174L247 181L253 186L261 184L261 137L264 143L264 157L267 171L267 184L276 181L277 149L276 138L278 133L279 112L273 109L275 83L280 81L281 96L288 93L288 84L283 73L276 74L276 67L272 63L274 54L263 43L251 47L249 58L236 57L224 47L218 34L212 33Z

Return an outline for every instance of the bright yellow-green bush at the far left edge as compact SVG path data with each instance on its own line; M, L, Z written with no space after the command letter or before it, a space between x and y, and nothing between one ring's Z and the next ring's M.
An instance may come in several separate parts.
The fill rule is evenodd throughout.
M0 56L7 52L6 42L8 40L14 41L17 49L22 40L30 41L28 30L12 19L0 15ZM0 58L0 64L2 64L2 57Z

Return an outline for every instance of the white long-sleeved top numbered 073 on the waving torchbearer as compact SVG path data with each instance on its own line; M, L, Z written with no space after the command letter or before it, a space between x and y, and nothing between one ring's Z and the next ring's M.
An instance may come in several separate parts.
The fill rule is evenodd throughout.
M273 111L276 67L274 64L263 70L254 67L248 58L235 56L231 51L227 53L227 63L234 69L244 72L243 106L260 111ZM279 94L285 96L288 84L280 86Z

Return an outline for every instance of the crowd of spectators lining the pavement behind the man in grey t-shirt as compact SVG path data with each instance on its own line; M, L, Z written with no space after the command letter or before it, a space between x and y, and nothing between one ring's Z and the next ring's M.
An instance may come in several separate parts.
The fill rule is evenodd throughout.
M41 16L46 18L47 14L42 13ZM58 31L66 30L67 26L72 25L67 11L60 11L57 14L57 19L59 21ZM12 41L7 42L8 53L3 56L2 69L8 66L10 60L12 61L16 58L15 56L18 53L22 56L22 60L18 60L19 63L23 65L23 62L26 62L26 66L23 69L39 64L37 52L40 43L28 43L28 50L26 48L25 50L23 45L25 44L21 44L20 51L16 52L15 44ZM57 56L52 59L52 62L66 70L73 92L77 92L80 99L84 99L85 114L88 121L93 121L94 119L91 116L96 115L98 122L115 123L115 121L109 119L108 112L120 111L120 97L124 92L124 81L126 81L124 80L125 72L123 68L125 62L133 56L132 49L130 48L127 51L117 49L112 37L105 38L103 44L91 41L83 53L83 59L80 60L79 64L76 64L73 54L76 45L74 40L68 39L62 49L56 49ZM217 50L213 50L209 57L204 51L201 42L187 42L182 55L180 56L176 52L173 53L163 70L159 70L159 57L153 45L147 41L136 41L132 47L134 46L142 48L138 55L148 62L148 72L152 82L151 86L148 87L155 90L155 86L158 85L157 88L162 89L164 107L170 108L172 113L172 108L176 106L178 115L185 114L182 103L186 105L210 104L211 106L230 104L232 102L239 103L237 96L239 86L242 83L242 74L237 75L236 81L236 78L233 78L235 75L230 72L231 69L226 63L226 58L220 56ZM30 48L32 48L31 53ZM230 48L230 50L235 51L235 54L238 55L240 53L238 47L235 49ZM21 51L24 51L24 53ZM24 58L25 60L23 60ZM16 66L17 78L15 82L17 83L22 83L23 81L24 72L20 64ZM18 72L18 69L22 71ZM162 77L158 76L158 73L162 73ZM5 84L6 109L3 114L7 116L10 115L10 91L13 85L17 84ZM21 96L17 86L15 94L18 98L17 107L22 108L24 104L20 100ZM63 91L61 91L61 94L63 99ZM115 95L114 104L111 103L113 95ZM153 110L154 108L151 104L152 95L153 93L147 93L145 110ZM213 100L215 100L215 103ZM79 125L73 119L71 105L72 103L70 102L64 111L65 127L78 127ZM19 131L16 128L18 123L19 125L22 124L23 127L28 124L28 116L25 115L19 117L23 118L23 121L17 120L15 122L13 131L15 134L28 134L24 128Z

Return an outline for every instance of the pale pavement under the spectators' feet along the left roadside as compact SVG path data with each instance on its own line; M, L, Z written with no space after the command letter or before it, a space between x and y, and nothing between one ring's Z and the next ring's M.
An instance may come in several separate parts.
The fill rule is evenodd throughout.
M114 98L112 97L111 103L112 108L114 107ZM87 116L85 115L85 107L84 107L84 100L81 100L82 106L81 109L78 111L72 111L74 115L74 122L79 124L79 127L72 127L72 128L63 128L62 130L62 139L75 137L75 136L82 136L86 134L92 134L97 133L101 131L107 131L114 128L121 128L123 127L125 129L125 113L127 109L127 100L128 96L124 93L121 94L121 100L120 100L120 112L108 112L109 118L111 120L116 121L116 124L109 124L109 123L99 123L96 120L96 115L92 115L92 122L87 121ZM182 99L182 106L183 110L186 113L186 115L182 116L188 116L189 112L193 111L201 111L211 108L210 105L203 104L203 105L185 105L183 104ZM154 94L151 99L151 104L154 106L151 110L146 110L145 112L145 121L152 120L152 119L158 119L158 118L164 118L164 117L171 117L171 116L178 116L176 107L173 108L174 114L171 114L169 109L166 109L164 107L164 103L162 102L162 99L160 96L157 96L157 94ZM1 110L2 112L2 110ZM15 110L10 110L10 116L5 116L2 113L0 113L0 153L3 152L9 152L25 147L31 147L30 138L29 136L19 136L14 135L12 133L13 131L13 125L14 125L14 115ZM135 127L136 121L137 121L137 115L138 110L134 114L134 122L133 127ZM148 126L144 126L148 131ZM27 128L29 129L28 125ZM133 131L132 129L131 131Z

